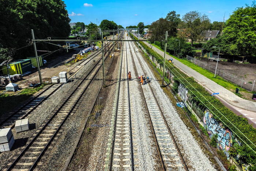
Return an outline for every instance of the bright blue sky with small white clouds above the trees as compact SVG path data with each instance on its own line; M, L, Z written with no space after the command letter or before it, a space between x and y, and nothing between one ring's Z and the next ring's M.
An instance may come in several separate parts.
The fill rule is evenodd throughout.
M226 12L226 20L235 8L252 4L252 0L64 0L64 2L71 22L88 24L96 23L96 19L99 23L107 19L123 27L137 25L139 22L144 22L144 25L151 24L161 17L165 18L166 14L172 10L181 17L186 12L199 11L207 14L211 22L223 21L224 12Z

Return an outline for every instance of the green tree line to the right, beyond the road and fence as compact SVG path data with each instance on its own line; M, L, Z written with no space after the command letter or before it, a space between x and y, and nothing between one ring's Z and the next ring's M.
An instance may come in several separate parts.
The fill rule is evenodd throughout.
M139 25L126 28L130 27L138 28ZM167 51L179 57L194 55L194 47L198 46L194 42L203 40L205 30L220 31L216 38L199 45L206 52L217 51L217 48L212 48L215 46L220 47L220 52L227 55L256 55L255 2L251 6L235 9L225 22L211 22L206 14L198 11L187 12L182 17L176 11L170 11L165 18L159 18L148 27L150 40L163 40L165 31L168 31ZM191 44L187 43L188 40ZM164 47L164 43L156 44Z

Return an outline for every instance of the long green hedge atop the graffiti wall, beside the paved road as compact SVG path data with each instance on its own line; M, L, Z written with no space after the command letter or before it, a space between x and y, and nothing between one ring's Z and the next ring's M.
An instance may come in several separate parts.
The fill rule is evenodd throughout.
M135 39L137 40L136 37ZM155 57L157 62L163 66L163 62L159 57L160 55L157 56L156 52L149 48L144 42L140 42L140 44L142 47L145 48L146 52L150 53L153 57ZM199 83L194 81L192 77L188 77L186 74L182 73L173 64L166 62L166 66L170 69L174 76L177 76L178 79L175 78L175 80L177 80L179 83L182 83L188 88L188 93L192 96L193 100L197 102L197 105L201 108L208 108L210 111L212 111L211 114L213 115L213 117L220 123L222 123L223 126L230 129L233 132L234 137L242 143L241 146L237 146L237 152L240 155L240 161L245 164L256 164L256 153L251 150L252 148L254 151L256 151L256 129L254 129L252 125L248 123L248 120L234 114L234 112L225 107L225 105L223 105L218 99L211 96L207 92L207 90L203 88L203 86L199 85ZM205 100L204 97L209 102ZM214 107L218 109L227 119L223 115L221 115ZM233 123L234 126L228 120ZM241 133L238 130L240 130ZM252 143L242 134L244 134ZM246 144L248 144L251 148L249 148L241 139L244 140Z

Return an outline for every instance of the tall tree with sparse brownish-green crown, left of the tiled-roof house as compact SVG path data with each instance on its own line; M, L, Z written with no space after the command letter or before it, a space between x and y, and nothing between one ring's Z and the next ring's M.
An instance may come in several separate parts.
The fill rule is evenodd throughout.
M198 11L190 11L183 15L182 22L179 27L178 36L181 38L188 38L193 44L194 41L201 40L202 31L208 30L210 26L210 19L207 15L201 14Z

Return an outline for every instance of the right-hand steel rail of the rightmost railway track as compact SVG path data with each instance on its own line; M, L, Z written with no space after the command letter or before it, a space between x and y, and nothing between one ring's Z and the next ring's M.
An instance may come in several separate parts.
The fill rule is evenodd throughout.
M132 45L132 46L133 46L133 45ZM134 47L133 47L133 48L134 48ZM134 50L135 50L135 48L134 48ZM136 54L136 56L137 56L137 54ZM141 66L141 60L139 59L138 56L137 56L137 59L138 59L138 61L139 61L139 65ZM136 67L136 66L135 66L135 67ZM146 77L145 71L144 71L144 69L143 69L142 66L141 66L141 69L142 69L142 71L143 71L143 73L144 73L144 75L145 75L145 77ZM149 83L148 83L148 85L149 85L149 88L150 88L150 90L151 90L151 92L152 92L152 94L153 94L153 97L154 97L155 101L156 101L156 104L157 104L158 108L160 109L160 113L161 113L161 115L162 115L162 117L163 117L164 123L166 124L167 129L168 129L168 131L169 131L169 133L170 133L170 135L171 135L172 141L174 142L175 148L176 148L177 151L178 151L178 154L179 154L179 157L181 158L181 161L182 161L182 163L183 163L183 166L184 166L185 170L188 171L188 167L186 166L185 160L183 159L183 156L182 156L182 154L181 154L181 151L179 150L179 147L178 147L178 145L177 145L177 142L175 141L175 138L174 138L174 136L173 136L173 134L172 134L172 132L171 132L171 130L170 130L170 127L168 126L168 123L167 123L167 121L166 121L166 118L165 118L165 116L163 115L163 111L162 111L162 109L160 108L160 105L159 105L159 103L158 103L158 101L157 101L157 99L156 99L155 93L153 92L151 85L150 85ZM143 91L142 91L142 93L143 93L143 95L144 95L144 92L143 92ZM144 98L145 98L145 95L144 95Z

